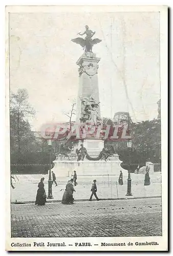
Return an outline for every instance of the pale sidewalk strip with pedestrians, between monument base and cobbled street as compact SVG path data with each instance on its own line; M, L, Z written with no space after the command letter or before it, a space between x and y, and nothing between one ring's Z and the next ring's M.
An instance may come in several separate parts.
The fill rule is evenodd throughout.
M39 177L40 178L40 177ZM17 181L14 182L15 189L11 188L11 202L34 202L37 193L38 180L35 181ZM45 180L48 177L45 176ZM111 177L78 177L78 185L75 187L74 198L77 201L88 200L91 194L91 185L93 179L97 180L97 196L100 199L124 199L124 198L150 198L161 197L161 174L155 173L150 175L150 185L144 186L143 174L132 174L132 197L126 197L127 190L127 176L123 175L123 185L118 184L118 176ZM61 201L64 189L66 188L67 178L57 178L58 186L53 184L53 200ZM48 193L48 182L45 181L45 190ZM93 198L94 199L94 198Z

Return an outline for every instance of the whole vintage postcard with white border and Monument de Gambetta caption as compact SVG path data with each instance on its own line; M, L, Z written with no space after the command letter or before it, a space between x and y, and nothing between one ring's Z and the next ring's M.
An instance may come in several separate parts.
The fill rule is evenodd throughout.
M166 251L167 7L6 7L6 250Z

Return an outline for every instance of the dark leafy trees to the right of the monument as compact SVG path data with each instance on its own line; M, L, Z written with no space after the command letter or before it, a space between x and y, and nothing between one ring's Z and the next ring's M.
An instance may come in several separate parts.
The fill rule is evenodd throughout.
M161 161L161 123L159 119L133 123L130 126L133 148L120 148L117 152L123 161L121 167L134 172L138 164L140 167L146 161L160 163Z

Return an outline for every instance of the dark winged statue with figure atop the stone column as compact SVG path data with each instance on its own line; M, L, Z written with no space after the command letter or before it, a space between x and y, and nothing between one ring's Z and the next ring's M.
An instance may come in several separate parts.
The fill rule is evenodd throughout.
M93 46L101 42L101 40L98 38L92 39L93 35L95 35L96 32L93 32L92 30L90 30L88 25L85 26L85 29L86 30L82 34L80 32L77 34L77 35L85 34L86 37L84 39L81 37L77 37L71 40L72 42L76 42L76 44L81 45L85 52L92 52Z

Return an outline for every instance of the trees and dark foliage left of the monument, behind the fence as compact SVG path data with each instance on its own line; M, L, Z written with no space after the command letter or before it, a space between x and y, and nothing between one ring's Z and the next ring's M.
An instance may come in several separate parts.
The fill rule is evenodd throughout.
M28 93L25 89L18 90L17 94L10 94L10 153L13 173L48 172L47 143L35 137L27 120L28 115L34 114L35 111L28 103ZM54 153L51 159L55 160Z

